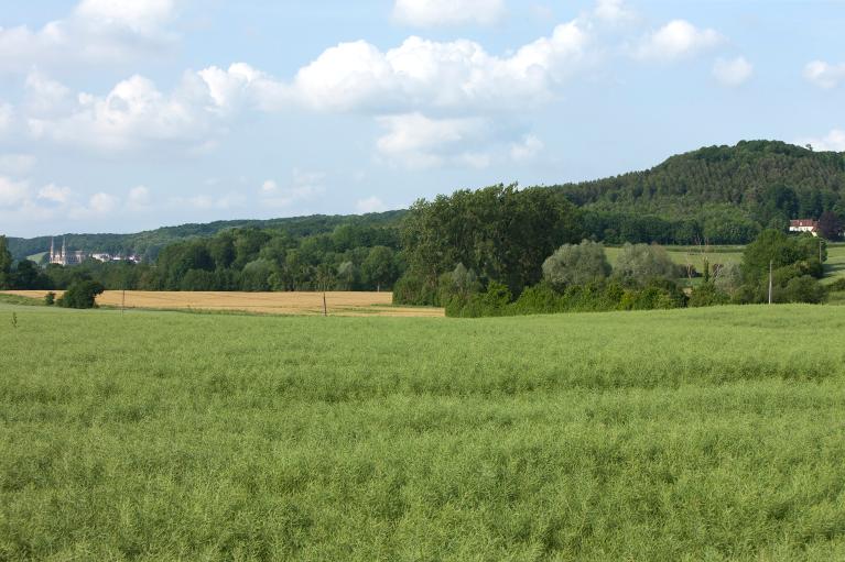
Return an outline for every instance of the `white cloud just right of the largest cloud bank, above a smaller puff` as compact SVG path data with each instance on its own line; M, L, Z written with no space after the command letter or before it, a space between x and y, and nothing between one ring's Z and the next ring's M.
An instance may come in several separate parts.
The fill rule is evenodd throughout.
M640 59L675 60L718 46L725 41L717 31L700 30L685 20L674 20L643 37L633 49Z

